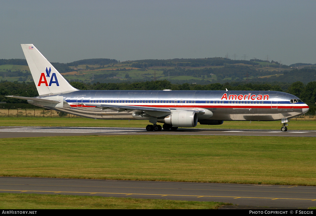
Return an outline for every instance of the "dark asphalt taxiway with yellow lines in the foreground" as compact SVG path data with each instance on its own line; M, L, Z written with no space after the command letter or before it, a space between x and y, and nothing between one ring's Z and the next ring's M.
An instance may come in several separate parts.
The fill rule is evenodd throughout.
M316 187L309 186L0 177L0 192L216 201L252 207L316 206Z

